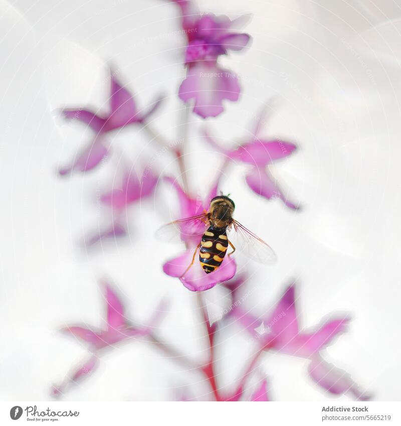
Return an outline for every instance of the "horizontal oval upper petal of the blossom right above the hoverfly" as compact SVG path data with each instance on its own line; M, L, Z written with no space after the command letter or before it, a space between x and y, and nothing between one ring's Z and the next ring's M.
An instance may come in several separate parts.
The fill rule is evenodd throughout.
M253 166L266 166L275 160L282 159L292 154L296 146L284 140L261 141L254 140L241 146L235 158Z

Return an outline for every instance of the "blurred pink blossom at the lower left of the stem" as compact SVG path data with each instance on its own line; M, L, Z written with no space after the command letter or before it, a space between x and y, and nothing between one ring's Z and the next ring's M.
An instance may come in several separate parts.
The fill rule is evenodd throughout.
M52 387L53 396L60 396L64 393L66 387L93 373L98 366L100 350L113 347L115 344L132 339L133 337L146 336L151 333L165 310L164 302L162 302L147 325L133 326L126 319L122 302L111 286L108 283L104 283L104 286L107 304L106 326L101 329L70 326L62 330L62 332L87 344L92 354L82 364L75 367L60 385Z

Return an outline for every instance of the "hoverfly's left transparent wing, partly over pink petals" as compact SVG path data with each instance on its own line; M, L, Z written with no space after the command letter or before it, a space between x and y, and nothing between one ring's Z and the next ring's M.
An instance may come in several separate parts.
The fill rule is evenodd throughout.
M156 231L156 238L161 241L183 241L190 236L202 235L208 226L209 216L203 213L167 223Z

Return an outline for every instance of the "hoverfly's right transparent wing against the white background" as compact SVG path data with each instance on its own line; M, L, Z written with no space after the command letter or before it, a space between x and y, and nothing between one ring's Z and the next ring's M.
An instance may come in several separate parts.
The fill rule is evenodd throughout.
M269 244L236 220L229 230L228 237L236 249L256 262L274 263L277 260L276 253Z

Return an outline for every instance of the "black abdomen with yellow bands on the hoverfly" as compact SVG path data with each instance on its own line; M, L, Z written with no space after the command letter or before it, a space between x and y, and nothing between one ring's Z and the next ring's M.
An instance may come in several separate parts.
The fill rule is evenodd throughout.
M199 250L199 262L206 273L213 272L222 264L228 246L226 228L209 227L202 237Z

